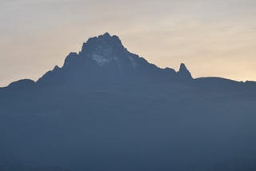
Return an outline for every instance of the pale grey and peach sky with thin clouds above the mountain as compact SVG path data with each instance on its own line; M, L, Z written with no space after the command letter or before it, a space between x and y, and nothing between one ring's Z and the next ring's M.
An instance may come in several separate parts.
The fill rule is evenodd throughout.
M37 80L90 37L194 76L256 81L255 0L0 0L0 86Z

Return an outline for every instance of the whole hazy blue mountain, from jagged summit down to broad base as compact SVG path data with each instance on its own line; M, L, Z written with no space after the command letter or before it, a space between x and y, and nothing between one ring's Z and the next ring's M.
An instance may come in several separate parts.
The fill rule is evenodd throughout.
M255 90L158 68L106 33L0 88L0 169L255 170Z

